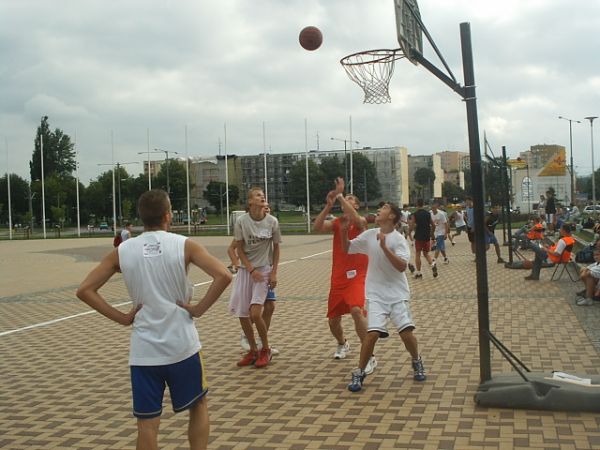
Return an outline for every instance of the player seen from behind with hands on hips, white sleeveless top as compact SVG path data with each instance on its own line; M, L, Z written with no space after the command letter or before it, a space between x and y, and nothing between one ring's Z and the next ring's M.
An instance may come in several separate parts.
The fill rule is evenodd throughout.
M171 202L155 189L138 202L144 233L123 242L92 270L77 297L109 319L132 325L129 364L133 414L137 417L137 448L157 448L164 386L169 386L173 410L189 410L188 437L192 448L208 445L209 421L202 344L193 318L202 316L229 285L232 275L204 247L185 236L169 233ZM190 264L213 282L196 304L187 279ZM106 302L100 288L117 272L133 307L124 313Z

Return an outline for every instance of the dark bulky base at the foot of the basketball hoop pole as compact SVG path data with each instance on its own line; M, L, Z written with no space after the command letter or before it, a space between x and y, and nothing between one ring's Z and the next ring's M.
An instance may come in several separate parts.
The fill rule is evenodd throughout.
M551 372L526 372L525 375L529 381L510 373L481 383L475 403L494 408L600 413L600 375L577 375L591 378L591 386L554 380Z

